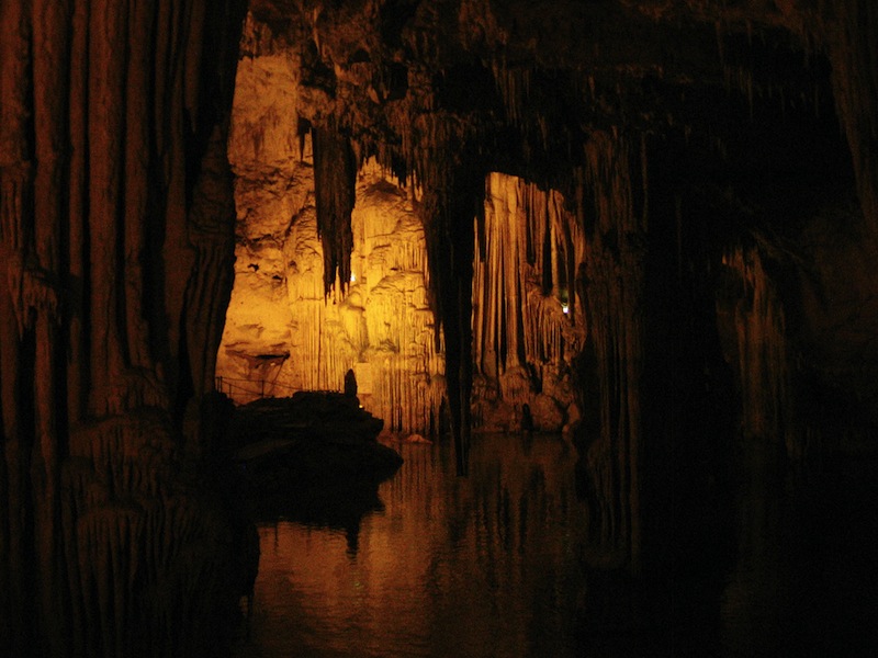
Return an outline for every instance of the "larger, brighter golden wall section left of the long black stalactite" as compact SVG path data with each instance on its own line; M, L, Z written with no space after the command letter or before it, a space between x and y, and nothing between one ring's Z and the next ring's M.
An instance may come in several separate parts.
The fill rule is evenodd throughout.
M359 163L346 256L327 258L335 230L318 226L318 217L335 211L318 207L315 179L324 173L315 169L319 144L300 116L309 105L299 87L299 57L252 16L241 43L228 147L238 217L235 288L217 386L240 404L341 390L353 370L361 404L386 430L428 433L438 422L444 376L414 191L374 160ZM329 197L349 185L324 184Z

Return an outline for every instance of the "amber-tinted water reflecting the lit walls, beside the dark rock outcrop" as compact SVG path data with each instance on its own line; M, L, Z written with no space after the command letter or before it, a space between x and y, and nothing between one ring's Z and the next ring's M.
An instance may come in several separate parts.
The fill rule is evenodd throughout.
M357 532L259 527L251 639L239 656L578 656L587 527L559 438L404 444Z

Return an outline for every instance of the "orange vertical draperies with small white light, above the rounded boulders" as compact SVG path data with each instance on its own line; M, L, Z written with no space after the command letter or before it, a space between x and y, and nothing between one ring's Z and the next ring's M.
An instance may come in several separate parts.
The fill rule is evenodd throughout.
M473 359L477 371L502 381L505 372L560 366L579 349L574 327L576 269L585 242L563 196L502 173L487 180L484 222L476 230L473 274ZM537 388L540 382L533 383ZM515 393L500 390L510 399Z

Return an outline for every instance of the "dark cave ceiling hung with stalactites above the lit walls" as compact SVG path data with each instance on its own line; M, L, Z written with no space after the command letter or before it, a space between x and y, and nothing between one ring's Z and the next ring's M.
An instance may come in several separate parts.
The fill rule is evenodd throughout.
M865 218L875 234L867 145L878 84L864 66L875 22L866 2L255 0L249 9L241 56L294 60L302 131L340 133L358 163L374 157L427 191L431 260L441 256L437 235L471 241L463 224L479 200L465 197L491 171L572 203L596 135L643 143L650 167L675 180L663 190L643 179L634 193L701 198L711 213L699 220L718 232L731 223L791 236L798 259L813 257L801 238L817 216ZM344 245L327 246L329 266L344 270ZM443 309L448 290L438 288L449 282L435 274L442 322L454 303ZM327 272L327 287L334 279Z

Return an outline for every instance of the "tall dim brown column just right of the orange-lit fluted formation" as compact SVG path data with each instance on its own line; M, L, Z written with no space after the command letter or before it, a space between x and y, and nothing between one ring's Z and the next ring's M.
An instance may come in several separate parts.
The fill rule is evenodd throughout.
M645 158L627 136L596 133L586 145L586 168L578 182L594 207L585 269L577 279L588 317L585 362L597 371L596 407L600 435L587 454L597 523L606 545L633 569L640 565L642 452L640 395L643 367L645 194L635 180ZM640 150L640 152L639 152ZM635 173L637 172L637 173ZM642 181L645 185L645 181ZM581 373L584 376L586 373ZM594 401L597 404L594 405Z

